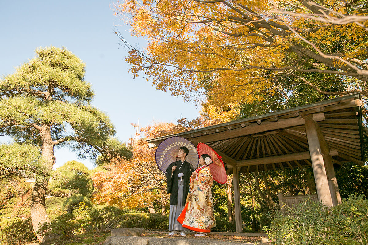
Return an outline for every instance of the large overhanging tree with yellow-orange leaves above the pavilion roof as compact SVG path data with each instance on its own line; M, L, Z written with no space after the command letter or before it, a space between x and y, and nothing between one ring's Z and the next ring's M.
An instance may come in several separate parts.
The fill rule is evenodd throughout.
M125 0L115 7L131 35L147 41L140 49L116 30L132 75L175 96L251 103L279 93L280 79L324 95L368 95L365 0Z

